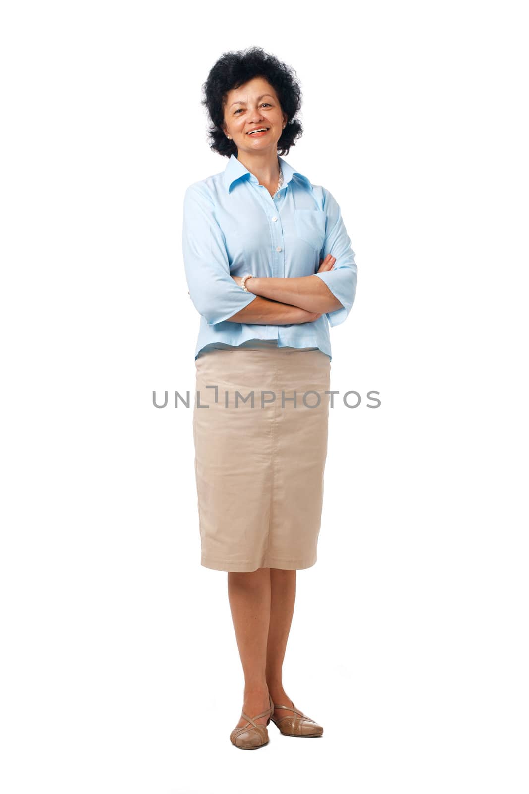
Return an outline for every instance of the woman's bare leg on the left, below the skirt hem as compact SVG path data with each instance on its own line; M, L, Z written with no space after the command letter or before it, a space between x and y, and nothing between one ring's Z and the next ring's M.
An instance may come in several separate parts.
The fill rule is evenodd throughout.
M243 665L243 711L253 717L270 707L266 684L270 568L259 568L251 572L228 571L228 599ZM246 722L241 716L237 727ZM260 717L255 722L265 725L266 717Z

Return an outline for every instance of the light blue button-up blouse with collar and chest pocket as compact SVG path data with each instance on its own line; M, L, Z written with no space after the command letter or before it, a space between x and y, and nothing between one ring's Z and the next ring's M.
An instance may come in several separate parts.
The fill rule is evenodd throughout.
M209 345L316 348L332 359L329 324L343 322L355 301L357 265L334 196L278 157L283 185L274 198L232 154L224 172L192 183L183 207L182 248L190 298L201 314L195 359ZM332 253L334 269L316 273ZM289 325L228 322L257 296L232 276L319 276L343 308Z

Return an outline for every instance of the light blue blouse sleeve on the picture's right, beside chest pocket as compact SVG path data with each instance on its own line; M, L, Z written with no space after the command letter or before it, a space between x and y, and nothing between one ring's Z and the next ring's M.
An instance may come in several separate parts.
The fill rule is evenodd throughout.
M316 273L324 281L332 294L339 300L343 308L328 311L327 318L331 326L338 326L347 318L351 306L355 303L358 268L355 252L351 248L351 240L342 219L338 202L330 191L324 188L325 241L321 256L329 253L336 257L332 270Z

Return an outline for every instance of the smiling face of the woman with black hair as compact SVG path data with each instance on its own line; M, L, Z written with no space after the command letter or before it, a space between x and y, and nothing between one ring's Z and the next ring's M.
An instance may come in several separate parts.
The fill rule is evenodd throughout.
M263 77L255 77L240 88L228 91L224 104L224 134L239 152L277 152L286 125L278 96ZM268 128L264 133L252 129Z

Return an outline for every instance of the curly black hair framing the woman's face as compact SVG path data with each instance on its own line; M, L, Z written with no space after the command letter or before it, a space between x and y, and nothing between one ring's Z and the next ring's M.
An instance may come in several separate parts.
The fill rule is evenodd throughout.
M237 147L224 135L224 105L228 91L239 88L255 77L263 77L278 95L287 122L278 141L278 154L289 153L291 146L301 137L303 126L295 117L301 107L301 87L294 77L296 71L270 55L261 47L250 47L237 52L223 52L209 71L202 85L204 99L201 104L208 110L212 124L209 127L209 147L224 157L237 156Z

